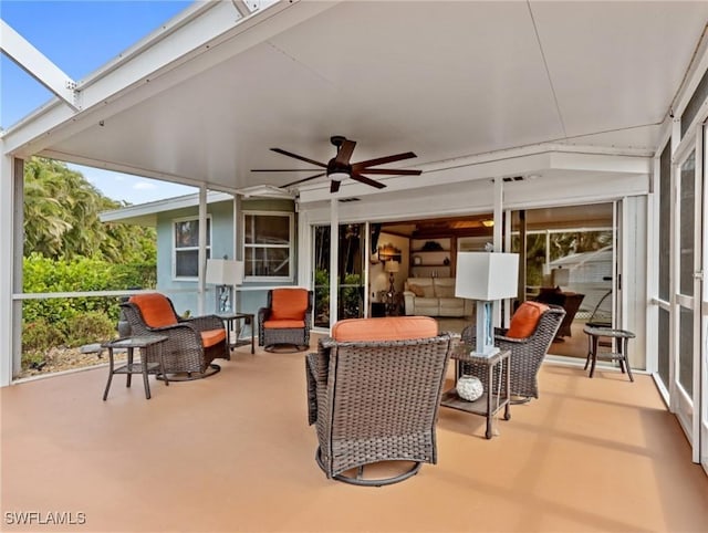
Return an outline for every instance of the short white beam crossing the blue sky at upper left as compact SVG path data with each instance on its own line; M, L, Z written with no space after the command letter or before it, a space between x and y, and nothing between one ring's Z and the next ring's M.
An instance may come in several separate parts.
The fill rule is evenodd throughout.
M59 96L73 111L81 108L76 82L0 19L0 51Z

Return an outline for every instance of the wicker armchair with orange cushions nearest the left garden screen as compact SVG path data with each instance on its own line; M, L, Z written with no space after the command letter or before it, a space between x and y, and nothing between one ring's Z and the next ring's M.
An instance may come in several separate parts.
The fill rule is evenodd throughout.
M133 335L167 335L165 372L170 380L198 379L216 374L215 358L230 358L223 321L217 315L181 318L171 301L159 293L136 294L121 304Z

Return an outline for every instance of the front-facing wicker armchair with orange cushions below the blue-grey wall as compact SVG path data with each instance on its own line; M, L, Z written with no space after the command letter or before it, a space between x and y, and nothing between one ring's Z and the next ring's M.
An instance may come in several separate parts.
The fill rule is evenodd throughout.
M289 345L294 352L310 347L312 291L301 288L271 289L268 305L258 310L258 345L266 352Z

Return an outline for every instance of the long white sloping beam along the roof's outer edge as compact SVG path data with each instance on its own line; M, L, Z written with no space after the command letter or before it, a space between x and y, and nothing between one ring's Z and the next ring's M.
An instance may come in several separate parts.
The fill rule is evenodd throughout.
M143 42L127 61L119 60L81 83L82 112L50 104L3 133L6 153L30 156L100 121L184 83L200 72L282 31L331 9L337 2L278 2L246 19L233 20L230 2L209 2L188 23ZM207 53L208 52L208 53Z

